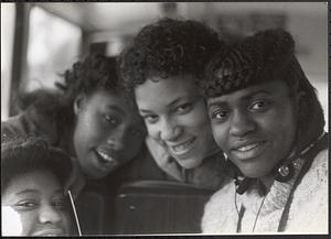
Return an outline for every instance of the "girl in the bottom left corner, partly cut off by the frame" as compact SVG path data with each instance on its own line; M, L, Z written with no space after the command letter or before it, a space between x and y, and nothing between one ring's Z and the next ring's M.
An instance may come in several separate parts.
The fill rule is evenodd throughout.
M1 144L2 236L68 236L70 205L64 185L71 161L45 141Z

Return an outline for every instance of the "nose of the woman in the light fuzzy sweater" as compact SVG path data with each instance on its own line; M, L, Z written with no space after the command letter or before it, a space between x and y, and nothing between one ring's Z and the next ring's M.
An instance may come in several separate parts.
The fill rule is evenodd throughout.
M229 134L235 137L245 137L247 133L254 131L256 128L255 121L249 116L249 112L243 112L241 110L234 111Z

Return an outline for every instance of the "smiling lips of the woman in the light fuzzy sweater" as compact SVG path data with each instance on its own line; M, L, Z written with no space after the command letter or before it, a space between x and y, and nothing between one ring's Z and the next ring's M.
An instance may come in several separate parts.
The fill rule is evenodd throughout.
M236 142L231 154L237 160L249 160L259 156L267 149L267 141Z

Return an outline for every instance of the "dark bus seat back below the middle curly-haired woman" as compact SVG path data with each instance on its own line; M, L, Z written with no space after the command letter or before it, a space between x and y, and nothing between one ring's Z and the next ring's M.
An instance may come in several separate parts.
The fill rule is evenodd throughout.
M115 233L199 233L211 189L166 181L125 184L115 198Z

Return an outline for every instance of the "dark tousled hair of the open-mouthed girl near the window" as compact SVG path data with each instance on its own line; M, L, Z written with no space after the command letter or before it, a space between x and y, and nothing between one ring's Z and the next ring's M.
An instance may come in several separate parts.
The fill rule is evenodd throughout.
M57 127L63 129L73 123L73 104L79 94L89 95L96 89L119 93L115 57L90 54L65 70L63 78L63 83L55 83L60 91L39 89L22 94L22 108L34 107L39 112L53 118Z

